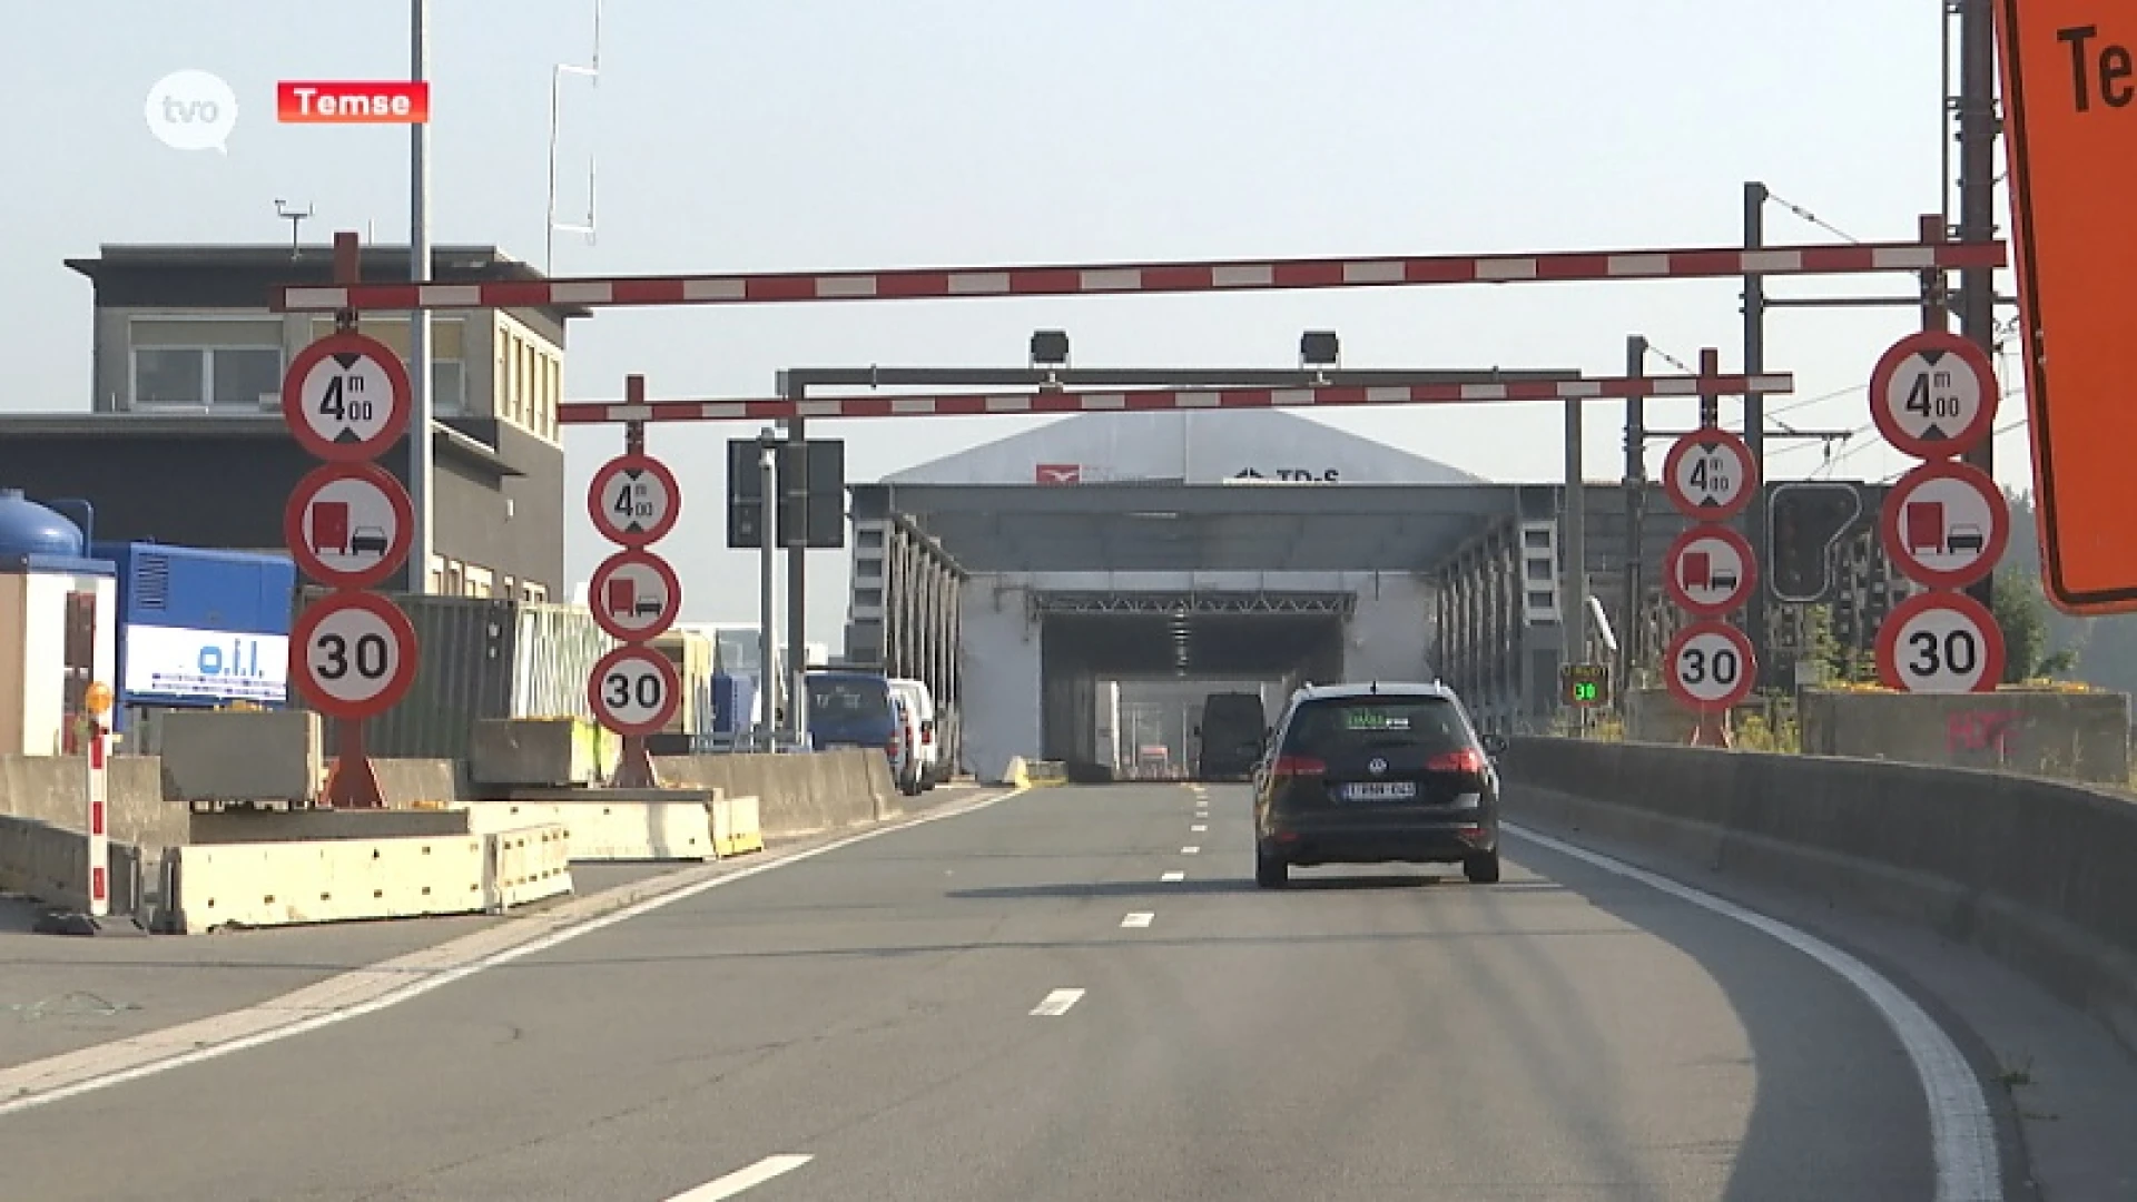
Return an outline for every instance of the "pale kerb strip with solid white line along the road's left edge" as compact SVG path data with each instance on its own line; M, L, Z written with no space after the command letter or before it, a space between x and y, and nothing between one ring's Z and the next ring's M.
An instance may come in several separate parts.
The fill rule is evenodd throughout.
M596 900L600 896L600 894L592 894L592 896L579 898L577 903L566 903L566 907L562 907L562 909L547 911L547 913L534 913L534 915L528 915L528 918L521 920L526 924L526 930L543 930L543 928L547 928L547 933L534 935L530 939L524 939L524 941L513 943L509 947L502 947L498 952L487 952L483 956L477 956L472 960L464 960L464 962L457 962L457 965L451 965L447 960L451 967L434 969L434 967L430 967L430 960L436 960L440 956L451 956L453 947L462 947L462 945L466 945L466 947L494 945L498 941L498 935L500 933L509 933L509 928L494 926L494 928L487 928L487 930L477 930L472 935L464 935L459 939L451 939L447 943L438 943L436 947L425 947L421 952L412 952L412 954L402 956L397 960L385 960L385 962L372 965L368 969L357 969L353 973L344 973L340 977L331 977L327 982L321 982L321 984L314 984L314 986L306 986L306 988L301 988L297 992L282 995L282 997L278 997L274 1001L265 1001L265 1003L248 1007L248 1010L233 1010L229 1014L216 1014L212 1018L201 1018L197 1022L184 1022L184 1024L177 1024L177 1027L165 1027L162 1031L147 1031L143 1035L130 1035L126 1039L115 1039L111 1044L98 1044L94 1048L83 1048L79 1052L66 1052L66 1054L60 1054L60 1057L47 1057L43 1061L30 1061L26 1065L13 1065L13 1067L6 1067L6 1069L0 1069L0 1119L6 1119L9 1114L17 1114L21 1110L34 1110L38 1106L49 1106L53 1101L64 1101L68 1097L79 1097L83 1093L92 1093L92 1091L98 1091L98 1089L109 1089L113 1084L126 1084L130 1080L141 1080L141 1078L165 1074L165 1072L171 1072L171 1069L177 1069L177 1067L197 1065L201 1061L214 1061L214 1059L227 1057L231 1052L244 1052L248 1048L261 1048L265 1044L278 1044L278 1042L291 1039L295 1035L310 1035L312 1031L318 1031L321 1027L333 1027L336 1022L344 1022L348 1018L361 1018L365 1014L376 1014L380 1010L387 1010L387 1007L400 1005L404 1001L423 997L430 990L444 988L444 986L449 986L453 982L462 982L462 980L472 977L472 975L477 975L481 971L487 971L487 969L496 969L498 965L509 965L513 960L532 956L536 952L547 952L549 947L558 947L562 943L571 943L573 939L577 939L581 935L592 935L594 930L603 930L603 928L615 926L620 922L630 922L633 918L652 913L656 909L671 907L675 903L695 898L695 896L699 896L703 892L718 890L718 888L731 885L735 881L748 881L750 877L759 877L763 873L786 868L791 864L801 864L806 860L814 860L816 856L827 856L831 851L840 851L844 847L853 847L855 843L868 843L870 838L880 838L885 834L895 834L900 830L912 830L912 828L919 828L919 826L927 826L927 823L936 823L936 821L945 821L945 819L953 819L953 817L964 817L964 815L970 815L970 813L979 813L979 811L985 811L985 808L996 806L1000 802L1007 802L1011 798L1021 798L1030 789L1011 789L1007 793L996 793L992 798L979 798L979 800L968 802L968 804L957 804L957 806L951 806L951 808L927 813L927 815L915 817L910 821L900 821L895 826L870 828L870 830L863 830L859 834L848 834L844 838L836 838L836 841L825 843L821 847L808 847L808 849L801 849L801 851L791 851L791 853L780 856L778 860L765 860L765 862L759 862L759 864L750 864L748 868L739 868L739 870L733 870L733 873L722 873L718 877L709 877L709 879L703 879L703 881L692 881L692 883L682 885L677 890L671 890L671 892L665 892L665 894L654 894L650 898L630 903L626 907L605 911L605 913L600 913L596 918L588 918L588 920L573 918L573 913L575 913L571 909L573 905L592 903L592 900ZM406 960L421 960L425 967L421 967L421 969L404 967ZM350 1005L344 1005L340 1010L318 1012L316 1003L303 1001L306 997L314 997L316 999L321 990L331 992L333 986L340 984L340 982L355 982L355 984L361 986L365 982L391 980L391 977L410 975L410 973L421 973L421 975L417 975L417 980L412 980L412 982L408 982L404 986L389 988L387 992L368 997L365 1001L350 1003ZM295 1022L288 1020L291 1014L303 1014L303 1012L312 1012L312 1014L308 1018L299 1018ZM214 1037L214 1042L207 1042L212 1037L209 1033L222 1035L227 1029L233 1029L233 1027L244 1029L248 1024L263 1024L263 1029L256 1029L256 1031L250 1031L250 1033L237 1035L237 1037ZM188 1042L186 1039L188 1031L199 1031L201 1033L199 1039L190 1039ZM177 1052L177 1054L167 1054L165 1050L171 1048L171 1046L190 1046L190 1050ZM111 1067L111 1069L98 1072L100 1065L107 1063L107 1061L111 1061L111 1063L115 1063L120 1067ZM51 1080L51 1078L62 1078L64 1084L45 1087L43 1082ZM71 1080L66 1080L66 1078L71 1078Z

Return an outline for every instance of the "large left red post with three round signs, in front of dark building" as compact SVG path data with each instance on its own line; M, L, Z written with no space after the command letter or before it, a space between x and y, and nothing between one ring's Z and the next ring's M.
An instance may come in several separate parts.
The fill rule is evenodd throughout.
M336 235L333 276L357 280L355 235ZM400 355L357 334L350 310L340 310L336 332L299 351L282 374L288 432L325 460L282 509L282 537L299 571L333 590L297 616L288 639L291 682L336 719L333 770L321 789L327 808L385 808L363 723L415 684L415 625L393 601L363 592L400 571L415 541L415 503L376 464L410 434L412 398ZM430 438L430 430L410 436ZM425 567L415 565L415 575Z

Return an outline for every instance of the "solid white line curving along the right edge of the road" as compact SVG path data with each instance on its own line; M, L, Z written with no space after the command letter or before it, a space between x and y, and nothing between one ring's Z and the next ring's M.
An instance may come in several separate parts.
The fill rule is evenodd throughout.
M1945 1035L1943 1027L1938 1027L1928 1012L1915 1005L1915 999L1906 997L1900 986L1891 984L1878 975L1876 969L1863 965L1855 956L1849 956L1840 947L1834 947L1816 935L1797 930L1778 918L1744 909L1731 900L1690 885L1680 885L1669 877L1635 868L1624 860L1613 860L1601 851L1575 847L1560 838L1551 838L1549 834L1539 834L1513 823L1500 823L1500 830L1517 834L1539 847L1549 847L1560 856L1594 864L1605 873L1639 881L1650 890L1660 890L1678 900L1688 900L1699 909L1731 918L1752 930L1772 935L1846 980L1885 1018L1885 1024L1891 1027L1900 1046L1906 1048L1906 1059L1915 1061L1915 1076L1921 1078L1921 1095L1930 1106L1930 1153L1936 1159L1936 1202L2002 1202L2002 1170L1998 1168L1996 1157L1996 1119L1990 1114L1990 1104L1981 1093L1981 1082L1975 1078L1975 1069L1966 1063L1966 1057L1960 1054L1957 1044L1951 1042L1951 1035Z

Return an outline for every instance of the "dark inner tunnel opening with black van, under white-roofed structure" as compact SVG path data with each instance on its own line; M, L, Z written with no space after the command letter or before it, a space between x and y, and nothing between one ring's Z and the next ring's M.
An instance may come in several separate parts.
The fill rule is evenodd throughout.
M1045 592L1041 753L1075 781L1192 776L1210 693L1265 712L1304 680L1340 680L1351 592ZM1156 768L1154 764L1163 764Z

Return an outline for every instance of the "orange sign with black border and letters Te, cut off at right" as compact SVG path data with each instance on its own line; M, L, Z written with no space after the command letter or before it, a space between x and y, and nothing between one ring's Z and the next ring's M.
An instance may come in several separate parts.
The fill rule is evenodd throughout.
M1996 49L2047 597L2137 612L2137 6L1996 0Z

